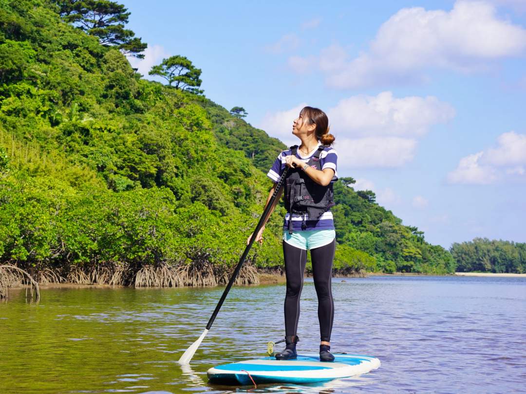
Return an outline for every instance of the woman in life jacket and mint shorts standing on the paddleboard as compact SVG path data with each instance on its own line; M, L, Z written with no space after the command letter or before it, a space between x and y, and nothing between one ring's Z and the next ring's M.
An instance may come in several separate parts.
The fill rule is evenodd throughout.
M334 318L331 276L336 232L329 209L334 205L332 182L337 180L338 155L329 146L335 138L329 134L329 120L325 112L312 107L305 107L301 110L298 118L292 123L292 134L300 139L300 146L282 151L267 174L276 182L269 192L268 203L281 174L287 166L290 167L285 184L287 214L283 234L283 254L287 277L285 296L287 345L285 350L276 354L276 358L287 360L297 357L296 343L299 338L296 330L299 320L299 299L307 263L307 250L310 250L312 274L318 295L320 360L333 361L334 356L329 350ZM264 223L274 211L282 190ZM265 225L256 235L256 241L259 243L263 242L261 234L264 230ZM247 242L250 241L252 235Z

